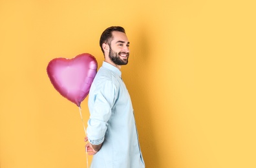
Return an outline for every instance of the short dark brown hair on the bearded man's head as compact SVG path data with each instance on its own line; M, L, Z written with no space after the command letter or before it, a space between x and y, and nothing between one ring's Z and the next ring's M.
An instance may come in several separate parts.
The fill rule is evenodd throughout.
M122 26L111 26L106 30L104 30L104 32L100 36L100 48L103 54L104 54L104 50L102 48L102 44L107 43L109 46L111 46L111 41L113 39L112 32L114 31L125 33L125 29L122 28Z

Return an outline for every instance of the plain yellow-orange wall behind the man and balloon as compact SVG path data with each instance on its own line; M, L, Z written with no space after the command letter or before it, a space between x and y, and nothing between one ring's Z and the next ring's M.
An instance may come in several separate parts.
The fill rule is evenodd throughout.
M112 25L131 41L122 74L147 168L256 167L255 7L0 0L0 167L86 167L78 107L56 92L46 67L84 52L101 66L100 34ZM81 107L86 123L87 98Z

